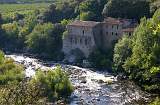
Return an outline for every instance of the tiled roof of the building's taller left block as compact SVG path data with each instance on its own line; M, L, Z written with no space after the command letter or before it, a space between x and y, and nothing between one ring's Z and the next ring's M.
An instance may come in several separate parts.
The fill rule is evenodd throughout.
M100 22L94 22L94 21L79 21L76 20L69 24L69 26L85 26L85 27L94 27L96 25L100 24Z

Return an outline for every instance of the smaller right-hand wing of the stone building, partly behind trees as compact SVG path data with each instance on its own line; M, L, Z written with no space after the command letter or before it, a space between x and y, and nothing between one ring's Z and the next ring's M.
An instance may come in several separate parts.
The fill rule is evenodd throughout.
M136 25L137 22L132 19L105 18L102 22L102 48L105 50L112 47L124 34L133 34Z

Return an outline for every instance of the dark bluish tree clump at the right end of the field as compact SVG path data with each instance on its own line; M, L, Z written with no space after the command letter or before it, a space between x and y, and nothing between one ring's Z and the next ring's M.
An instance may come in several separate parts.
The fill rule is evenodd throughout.
M76 8L79 2L76 0L58 1L51 4L41 15L43 22L59 23L63 19L72 19L77 16Z

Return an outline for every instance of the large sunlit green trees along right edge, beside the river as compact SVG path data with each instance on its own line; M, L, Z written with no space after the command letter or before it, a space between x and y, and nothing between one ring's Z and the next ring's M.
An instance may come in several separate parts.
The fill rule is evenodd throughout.
M160 90L160 11L141 20L132 37L115 46L114 62L148 91ZM131 39L130 39L131 38Z

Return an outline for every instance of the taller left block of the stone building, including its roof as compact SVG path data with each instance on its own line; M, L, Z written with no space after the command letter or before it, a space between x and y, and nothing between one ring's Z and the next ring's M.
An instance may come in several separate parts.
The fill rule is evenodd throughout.
M94 21L74 21L67 26L68 35L63 40L63 52L69 55L74 49L80 49L85 57L100 46L101 23Z

